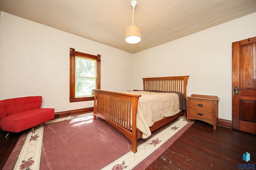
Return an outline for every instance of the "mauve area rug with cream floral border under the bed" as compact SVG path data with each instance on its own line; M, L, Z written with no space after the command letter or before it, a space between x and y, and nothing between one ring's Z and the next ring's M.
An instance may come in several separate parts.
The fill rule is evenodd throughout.
M124 135L92 113L54 119L26 131L3 170L145 169L192 125L186 117L168 123L138 140L138 152Z

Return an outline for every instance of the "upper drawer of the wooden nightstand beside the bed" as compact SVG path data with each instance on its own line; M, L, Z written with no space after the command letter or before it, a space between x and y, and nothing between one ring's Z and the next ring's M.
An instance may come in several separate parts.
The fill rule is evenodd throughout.
M189 108L213 111L213 102L210 100L190 99Z

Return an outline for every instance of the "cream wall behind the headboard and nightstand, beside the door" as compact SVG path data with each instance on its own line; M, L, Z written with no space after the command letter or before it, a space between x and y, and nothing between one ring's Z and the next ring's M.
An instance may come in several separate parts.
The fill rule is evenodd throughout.
M187 96L218 96L219 118L232 120L232 42L255 36L253 13L136 53L133 87L143 89L144 77L189 75Z

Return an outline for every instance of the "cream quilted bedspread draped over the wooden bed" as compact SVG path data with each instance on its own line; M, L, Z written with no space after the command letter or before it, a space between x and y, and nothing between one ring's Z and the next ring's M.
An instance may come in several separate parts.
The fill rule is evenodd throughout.
M164 117L179 113L180 102L176 93L158 93L146 91L122 92L126 94L142 95L138 100L137 129L142 132L142 139L150 137L151 127L156 121Z

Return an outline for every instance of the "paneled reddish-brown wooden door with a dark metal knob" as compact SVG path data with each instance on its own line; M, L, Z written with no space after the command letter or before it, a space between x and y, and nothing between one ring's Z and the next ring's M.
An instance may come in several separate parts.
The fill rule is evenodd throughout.
M256 134L256 37L232 43L232 128Z

